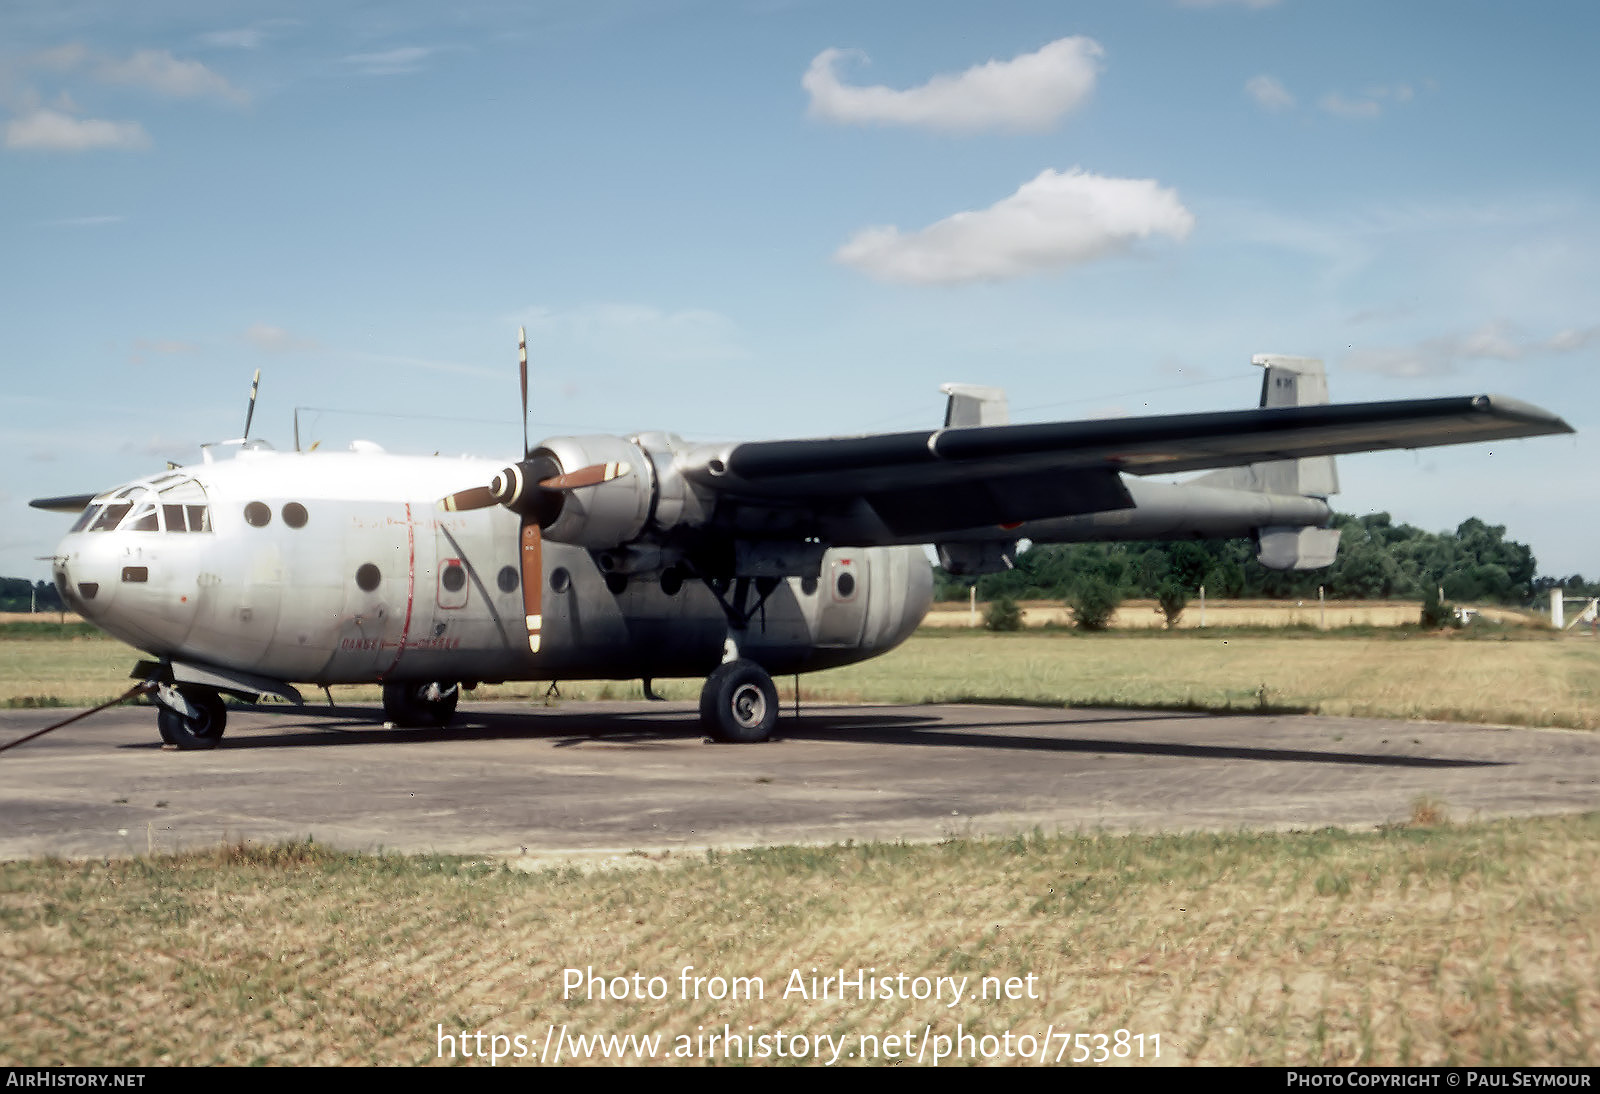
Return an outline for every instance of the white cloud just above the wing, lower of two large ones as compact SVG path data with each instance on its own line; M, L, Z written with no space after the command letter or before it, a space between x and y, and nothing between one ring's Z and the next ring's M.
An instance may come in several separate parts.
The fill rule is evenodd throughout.
M864 229L834 258L885 281L955 285L1088 262L1152 235L1182 240L1194 221L1155 179L1046 170L987 210L918 232Z

